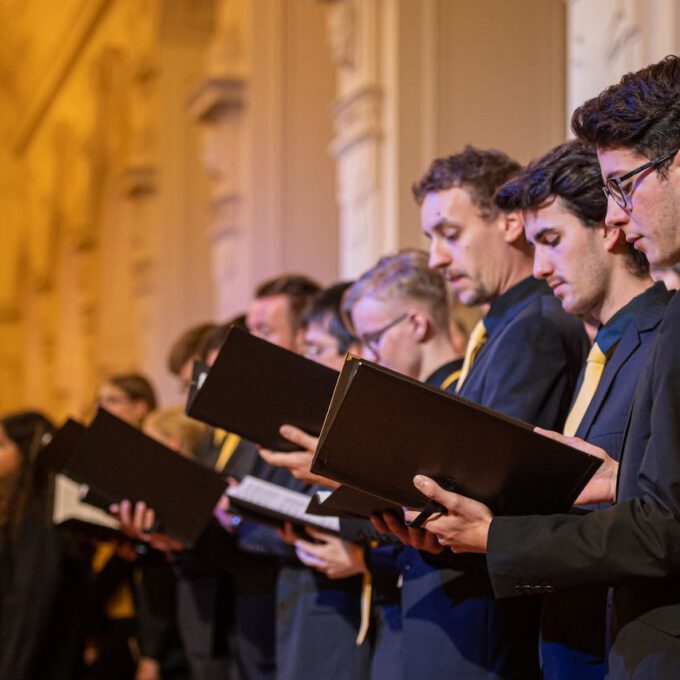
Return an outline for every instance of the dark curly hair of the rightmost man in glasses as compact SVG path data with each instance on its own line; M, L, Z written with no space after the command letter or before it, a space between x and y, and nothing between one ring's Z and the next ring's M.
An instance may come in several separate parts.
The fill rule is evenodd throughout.
M576 136L602 149L633 149L654 158L680 146L680 57L670 55L579 106ZM663 174L666 164L657 167Z

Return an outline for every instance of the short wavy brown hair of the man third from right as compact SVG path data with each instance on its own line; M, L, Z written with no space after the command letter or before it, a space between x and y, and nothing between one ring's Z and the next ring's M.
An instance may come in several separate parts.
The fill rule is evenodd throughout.
M469 144L460 153L436 158L427 172L412 187L413 196L422 204L425 196L452 187L466 189L484 219L498 214L494 195L498 188L520 171L520 164L496 149L477 149Z

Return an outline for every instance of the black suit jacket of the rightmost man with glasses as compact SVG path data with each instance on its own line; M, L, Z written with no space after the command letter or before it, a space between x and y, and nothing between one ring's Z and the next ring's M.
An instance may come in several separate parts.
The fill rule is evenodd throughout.
M612 585L611 678L680 677L680 298L640 371L617 503L583 517L494 519L498 596Z

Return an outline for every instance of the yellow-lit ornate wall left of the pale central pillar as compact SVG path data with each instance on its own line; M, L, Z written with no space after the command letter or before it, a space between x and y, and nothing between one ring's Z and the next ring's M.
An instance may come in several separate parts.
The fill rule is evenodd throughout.
M336 277L323 8L0 12L0 412L84 416L101 377L126 370L176 401L180 331L244 309L264 276Z

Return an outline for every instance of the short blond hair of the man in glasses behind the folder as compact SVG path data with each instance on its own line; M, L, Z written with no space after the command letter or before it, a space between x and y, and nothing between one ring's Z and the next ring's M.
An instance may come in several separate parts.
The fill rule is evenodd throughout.
M350 328L352 307L364 297L423 302L437 330L449 333L446 284L441 273L429 267L428 255L423 250L405 249L386 255L352 284L342 299L343 320Z

